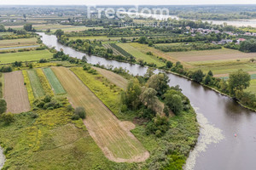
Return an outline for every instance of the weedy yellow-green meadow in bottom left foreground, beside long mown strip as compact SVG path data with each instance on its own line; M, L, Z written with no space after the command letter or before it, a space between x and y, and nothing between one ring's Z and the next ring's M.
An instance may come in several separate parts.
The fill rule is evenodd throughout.
M1 145L13 147L8 151L4 167L8 169L84 169L96 167L122 169L118 163L108 161L90 137L83 121L72 121L67 106L53 111L33 111L15 115L9 126L0 122ZM10 135L11 134L11 135ZM15 156L14 156L15 155ZM125 164L125 169L131 166Z

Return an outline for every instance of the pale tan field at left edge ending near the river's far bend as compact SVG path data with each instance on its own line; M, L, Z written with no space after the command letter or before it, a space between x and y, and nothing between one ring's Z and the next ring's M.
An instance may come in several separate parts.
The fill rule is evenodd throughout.
M20 38L12 40L0 40L0 48L19 47L19 46L32 46L37 45L38 39L32 38Z

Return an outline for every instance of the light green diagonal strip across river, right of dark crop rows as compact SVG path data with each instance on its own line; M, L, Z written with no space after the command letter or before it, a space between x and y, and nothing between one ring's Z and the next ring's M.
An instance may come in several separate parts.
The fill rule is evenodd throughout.
M123 48L127 53L133 55L136 59L143 59L143 61L147 63L154 63L157 66L165 65L160 59L157 59L155 56L148 55L143 53L137 48L132 46L132 43L118 43L117 44L120 48Z

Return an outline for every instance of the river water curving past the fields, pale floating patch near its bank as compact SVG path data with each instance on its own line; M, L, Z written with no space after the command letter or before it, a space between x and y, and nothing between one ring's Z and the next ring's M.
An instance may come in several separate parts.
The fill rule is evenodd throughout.
M48 47L63 49L65 54L82 58L84 55L57 42L55 36L38 33ZM87 55L86 55L87 56ZM91 64L126 68L134 75L143 75L146 67L87 56ZM179 85L191 101L201 125L198 144L184 169L196 170L255 170L256 169L256 113L234 100L204 88L183 77L167 74L170 85ZM236 133L236 137L235 134Z

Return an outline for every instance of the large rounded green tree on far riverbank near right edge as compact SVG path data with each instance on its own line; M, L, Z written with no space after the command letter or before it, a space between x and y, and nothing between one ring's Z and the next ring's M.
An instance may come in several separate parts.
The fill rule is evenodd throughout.
M230 74L229 89L230 94L234 95L236 90L244 90L250 86L251 77L246 71L236 71Z

